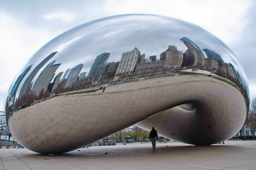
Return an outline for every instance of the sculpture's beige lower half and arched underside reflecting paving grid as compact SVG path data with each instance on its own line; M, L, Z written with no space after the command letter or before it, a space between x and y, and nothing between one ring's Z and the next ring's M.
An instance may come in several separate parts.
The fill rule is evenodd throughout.
M154 126L174 140L209 145L235 135L245 111L235 86L191 74L116 84L104 93L55 96L16 111L9 127L16 140L40 153L68 152L135 123L145 130Z

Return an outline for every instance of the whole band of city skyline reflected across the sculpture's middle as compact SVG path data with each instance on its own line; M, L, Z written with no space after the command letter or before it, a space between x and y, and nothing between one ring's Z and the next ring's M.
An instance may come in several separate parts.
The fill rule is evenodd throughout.
M182 52L177 50L175 45L169 45L167 50L160 54L160 60L157 60L156 55L146 59L145 54L140 55L140 50L137 47L130 52L124 52L119 62L107 62L111 53L104 52L96 57L87 76L87 72L80 73L84 64L78 64L72 69L67 69L65 74L60 72L54 77L61 64L55 64L54 60L43 69L33 84L32 80L35 74L57 53L52 52L33 69L33 72L30 73L23 83L18 98L15 99L18 86L32 65L26 68L18 77L11 90L11 95L7 98L8 103L6 102L6 107L16 103L16 106L13 106L13 108L17 108L24 103L35 100L35 98L47 98L51 93L60 94L65 91L73 91L77 89L75 87L83 89L88 86L101 84L101 82L120 81L121 79L131 79L147 74L159 74L186 69L191 69L191 72L196 71L196 69L202 69L221 77L226 77L241 89L244 96L247 96L247 89L243 85L243 80L240 79L240 74L235 70L233 64L223 62L218 53L209 49L203 49L206 53L206 58L202 50L189 38L183 37L180 40L186 45L187 50ZM53 82L50 83L52 79ZM28 94L29 92L30 94Z

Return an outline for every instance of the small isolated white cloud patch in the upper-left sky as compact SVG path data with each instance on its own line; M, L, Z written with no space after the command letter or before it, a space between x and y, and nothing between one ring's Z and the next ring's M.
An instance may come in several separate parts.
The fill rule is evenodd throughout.
M69 22L72 21L74 18L74 14L72 13L67 13L63 11L57 11L54 13L48 13L44 16L46 20L60 20L62 22Z

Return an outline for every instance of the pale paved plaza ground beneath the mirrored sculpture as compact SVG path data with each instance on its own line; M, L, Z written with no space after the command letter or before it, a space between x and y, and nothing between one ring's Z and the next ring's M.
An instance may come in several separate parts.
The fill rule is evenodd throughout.
M107 153L107 154L106 154ZM180 142L97 146L61 155L0 149L0 169L256 169L256 141L194 146Z

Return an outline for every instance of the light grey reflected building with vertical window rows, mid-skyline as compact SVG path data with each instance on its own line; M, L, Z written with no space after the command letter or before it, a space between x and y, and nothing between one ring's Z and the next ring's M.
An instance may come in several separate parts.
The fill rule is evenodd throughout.
M134 72L136 64L140 62L140 51L135 47L130 52L124 52L118 66L116 76Z

